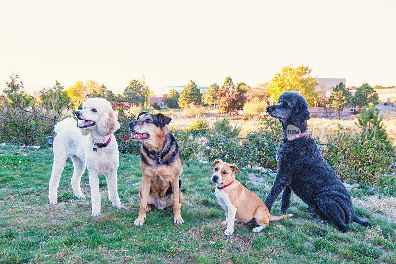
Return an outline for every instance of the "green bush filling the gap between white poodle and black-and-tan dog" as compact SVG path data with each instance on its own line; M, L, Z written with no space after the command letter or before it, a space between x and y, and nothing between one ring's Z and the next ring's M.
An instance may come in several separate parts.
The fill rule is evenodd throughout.
M114 136L117 139L119 151L121 153L139 155L142 143L129 139L131 132L129 131L128 126L130 121L135 120L135 115L126 115L124 111L118 111L117 120L120 123L121 128L114 132Z

